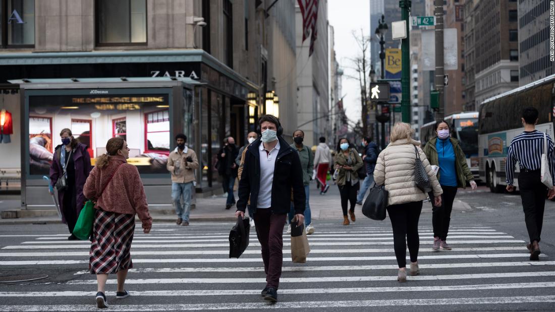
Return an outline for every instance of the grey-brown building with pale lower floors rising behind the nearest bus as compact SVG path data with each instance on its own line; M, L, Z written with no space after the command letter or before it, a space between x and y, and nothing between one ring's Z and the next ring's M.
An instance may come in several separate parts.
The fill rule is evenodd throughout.
M476 104L518 87L518 3L481 1L475 10ZM511 52L513 51L513 52ZM518 54L517 54L518 55Z

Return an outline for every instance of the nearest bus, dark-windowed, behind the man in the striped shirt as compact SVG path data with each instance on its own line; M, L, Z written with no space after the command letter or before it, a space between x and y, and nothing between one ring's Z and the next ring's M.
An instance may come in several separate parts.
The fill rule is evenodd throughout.
M533 106L539 111L536 129L553 137L555 74L482 102L478 120L480 177L492 193L506 187L505 162L513 138L522 131L522 110ZM514 186L518 187L518 165Z

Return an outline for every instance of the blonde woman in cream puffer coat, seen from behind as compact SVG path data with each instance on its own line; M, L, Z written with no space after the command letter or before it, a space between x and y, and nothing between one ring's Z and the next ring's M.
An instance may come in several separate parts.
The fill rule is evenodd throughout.
M391 142L378 156L374 170L376 185L385 185L385 189L389 193L387 213L393 228L393 245L399 265L397 273L399 282L407 280L407 243L411 258L410 275L420 273L418 269L418 248L420 247L418 220L426 193L422 192L415 182L416 151L430 177L436 206L441 206L441 194L443 193L426 154L420 148L420 142L412 140L413 132L411 125L405 122L396 122L391 131Z

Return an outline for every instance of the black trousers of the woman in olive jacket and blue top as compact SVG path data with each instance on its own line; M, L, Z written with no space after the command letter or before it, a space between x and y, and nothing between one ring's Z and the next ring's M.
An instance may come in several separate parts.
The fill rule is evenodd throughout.
M445 241L449 232L451 211L453 210L453 201L455 201L455 196L457 195L457 187L442 185L441 189L443 194L441 195L440 207L436 207L433 204L433 192L428 193L428 196L430 196L432 203L433 237L439 237L442 241Z

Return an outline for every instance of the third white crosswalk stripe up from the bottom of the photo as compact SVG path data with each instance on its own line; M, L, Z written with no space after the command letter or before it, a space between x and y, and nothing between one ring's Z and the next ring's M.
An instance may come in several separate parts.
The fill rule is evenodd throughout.
M555 272L534 272L534 277L553 277ZM452 279L486 279L486 278L517 278L530 277L530 272L510 273L477 273L477 274L447 274L447 275L417 275L407 276L407 280L452 280ZM371 282L397 280L395 276L342 276L342 277L282 277L281 283L328 283L328 282ZM248 284L265 283L266 278L145 278L127 279L125 284ZM116 279L109 279L107 284L117 284ZM97 284L96 279L70 280L66 285L92 285Z

